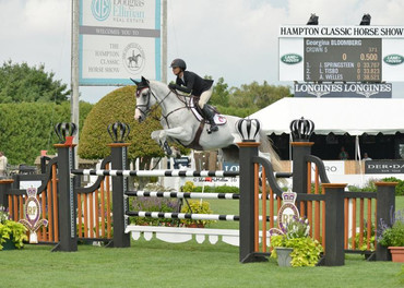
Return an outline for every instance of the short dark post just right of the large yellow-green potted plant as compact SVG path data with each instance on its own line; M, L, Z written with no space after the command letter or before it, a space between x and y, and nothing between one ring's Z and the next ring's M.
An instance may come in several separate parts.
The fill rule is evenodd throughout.
M345 264L344 189L346 185L345 183L322 183L325 190L325 266Z

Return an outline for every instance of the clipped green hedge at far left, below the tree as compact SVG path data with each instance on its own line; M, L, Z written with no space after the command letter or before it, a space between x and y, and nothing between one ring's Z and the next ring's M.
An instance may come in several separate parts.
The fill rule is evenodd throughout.
M80 125L92 105L80 103ZM70 103L0 104L0 149L9 164L33 165L41 149L55 154L59 142L55 133L58 122L70 122Z

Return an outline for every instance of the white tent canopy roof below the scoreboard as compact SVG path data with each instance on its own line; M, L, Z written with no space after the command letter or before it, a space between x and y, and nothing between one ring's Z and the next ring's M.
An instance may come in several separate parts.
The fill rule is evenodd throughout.
M316 134L404 133L404 99L286 97L250 116L268 135L289 134L301 117L314 122Z

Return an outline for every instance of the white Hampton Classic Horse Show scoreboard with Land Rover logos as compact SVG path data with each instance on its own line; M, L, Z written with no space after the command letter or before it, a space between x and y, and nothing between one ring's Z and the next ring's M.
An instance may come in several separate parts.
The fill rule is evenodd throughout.
M403 26L280 27L280 81L404 81Z

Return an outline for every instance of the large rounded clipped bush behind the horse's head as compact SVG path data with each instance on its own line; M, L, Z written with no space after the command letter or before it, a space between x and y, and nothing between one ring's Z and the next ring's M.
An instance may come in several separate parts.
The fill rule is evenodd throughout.
M88 113L84 122L79 145L79 155L86 159L100 159L110 154L107 144L111 143L107 127L115 122L130 125L130 134L126 140L131 143L128 157L141 159L141 169L150 163L152 157L164 156L163 149L151 137L152 131L161 130L155 109L147 119L138 123L134 118L135 86L118 88L102 98Z

